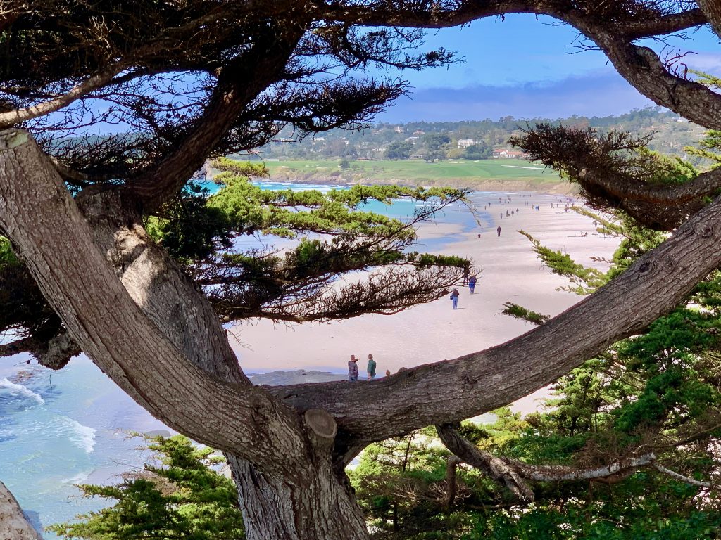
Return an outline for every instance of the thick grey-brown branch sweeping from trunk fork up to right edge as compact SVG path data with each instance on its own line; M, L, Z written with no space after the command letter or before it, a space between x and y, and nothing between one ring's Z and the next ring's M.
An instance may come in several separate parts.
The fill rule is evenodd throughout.
M339 426L340 454L353 438L379 441L470 418L543 387L673 309L721 265L720 238L718 198L613 282L503 345L352 388L322 383L272 391L301 410L323 408L332 413ZM634 309L619 310L619 305Z

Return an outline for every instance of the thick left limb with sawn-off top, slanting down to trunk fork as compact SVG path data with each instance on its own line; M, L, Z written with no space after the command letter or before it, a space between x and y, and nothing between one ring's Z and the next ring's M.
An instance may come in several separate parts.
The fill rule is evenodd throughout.
M306 441L298 415L267 392L221 382L180 354L123 288L27 132L1 135L0 226L77 343L169 426L292 476L273 456L281 448L301 454Z

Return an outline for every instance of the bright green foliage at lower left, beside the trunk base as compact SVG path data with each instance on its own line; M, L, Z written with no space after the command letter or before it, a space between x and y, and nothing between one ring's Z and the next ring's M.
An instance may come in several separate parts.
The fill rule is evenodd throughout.
M117 502L48 530L87 540L244 539L235 485L213 468L224 460L184 436L149 441L159 466L146 464L119 485L81 485L84 496Z

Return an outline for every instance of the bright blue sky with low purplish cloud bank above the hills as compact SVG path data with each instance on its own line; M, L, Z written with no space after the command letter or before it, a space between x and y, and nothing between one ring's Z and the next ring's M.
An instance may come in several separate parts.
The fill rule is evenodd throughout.
M515 14L482 19L469 27L429 32L425 49L456 50L463 63L402 77L412 93L382 112L376 120L454 121L565 117L572 114L622 114L653 105L630 86L598 51L575 53L577 32L554 19ZM674 49L691 50L689 67L721 74L721 47L703 28L690 39L670 38ZM655 50L655 42L644 43Z

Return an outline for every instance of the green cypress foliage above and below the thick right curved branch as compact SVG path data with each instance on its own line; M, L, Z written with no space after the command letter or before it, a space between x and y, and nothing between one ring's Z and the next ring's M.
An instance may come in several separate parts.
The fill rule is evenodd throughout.
M625 216L609 221L583 212L622 238L606 273L585 269L529 238L534 251L572 279L578 292L593 292L665 237ZM515 304L507 304L505 312L544 320ZM479 449L526 464L593 468L653 451L671 469L708 482L717 474L715 445L721 436L720 340L721 272L715 271L676 310L561 377L538 412L521 418L502 408L494 411L492 423L466 423L461 434ZM415 440L376 445L353 473L358 499L372 516L374 539L701 540L715 538L721 529L717 488L680 482L653 468L608 481L536 482L535 502L523 505L510 500L502 483L461 466L456 498L447 505L441 463L430 459L447 454L433 443L432 430L421 433L422 445ZM423 482L411 488L410 477ZM402 487L394 491L397 486ZM384 495L376 498L379 492ZM399 492L414 497L401 499ZM418 495L429 493L436 495ZM412 519L428 528L428 536Z

